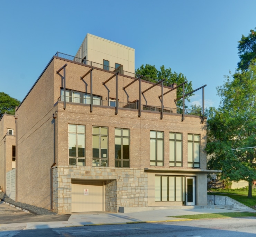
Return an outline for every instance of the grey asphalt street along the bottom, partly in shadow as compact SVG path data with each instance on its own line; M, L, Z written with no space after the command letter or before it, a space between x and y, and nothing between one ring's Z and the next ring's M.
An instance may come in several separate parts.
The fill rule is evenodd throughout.
M256 218L1 231L0 237L255 237Z

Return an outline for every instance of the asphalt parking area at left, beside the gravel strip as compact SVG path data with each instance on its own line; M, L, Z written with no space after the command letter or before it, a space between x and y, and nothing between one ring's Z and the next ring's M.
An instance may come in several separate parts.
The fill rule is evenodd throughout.
M0 203L0 224L67 221L70 215L37 215L18 210L5 203Z

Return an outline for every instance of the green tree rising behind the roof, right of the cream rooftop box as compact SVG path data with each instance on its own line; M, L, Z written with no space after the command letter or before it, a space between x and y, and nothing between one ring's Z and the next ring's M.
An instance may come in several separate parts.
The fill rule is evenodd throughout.
M172 72L171 68L165 69L164 65L160 67L160 71L156 69L155 65L146 64L145 67L144 65L141 65L140 68L135 70L135 73L139 75L143 75L145 77L153 78L155 80L163 80L165 78L166 82L170 84L177 83L177 85L187 80L182 73L178 74L176 72ZM185 83L184 86L185 86L185 94L193 90L191 81L189 81L188 83ZM193 94L186 96L185 99L188 102L190 102L189 97L192 95ZM177 89L177 98L181 96L182 96L182 87L179 87ZM177 101L177 106L182 108L182 100Z

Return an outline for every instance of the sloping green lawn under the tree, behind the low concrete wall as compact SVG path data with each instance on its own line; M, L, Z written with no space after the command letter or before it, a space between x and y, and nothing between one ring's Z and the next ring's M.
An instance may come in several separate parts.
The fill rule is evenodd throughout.
M241 190L241 189L211 189L211 192L214 192L214 195L221 195L221 196L228 196L230 198L233 198L240 203L243 203L244 205L254 208L256 205L256 191L253 189L252 194L253 198L247 198L248 190ZM223 192L222 194L219 192ZM208 195L211 195L211 193L208 192Z

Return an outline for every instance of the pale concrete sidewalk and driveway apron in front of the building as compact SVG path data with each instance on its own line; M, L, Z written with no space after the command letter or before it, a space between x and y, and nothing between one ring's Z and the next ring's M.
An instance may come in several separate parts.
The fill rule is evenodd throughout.
M86 225L111 225L111 224L127 224L136 222L163 222L163 221L186 221L168 216L177 215L195 215L207 213L227 213L238 212L242 210L223 209L223 208L194 208L194 209L165 209L150 210L134 213L73 213L67 221L47 221L33 223L16 223L0 225L0 230L21 230L21 229L39 229L39 228L57 228L57 227L74 227ZM248 210L247 210L248 211ZM256 210L252 211L256 212Z

